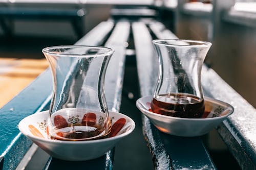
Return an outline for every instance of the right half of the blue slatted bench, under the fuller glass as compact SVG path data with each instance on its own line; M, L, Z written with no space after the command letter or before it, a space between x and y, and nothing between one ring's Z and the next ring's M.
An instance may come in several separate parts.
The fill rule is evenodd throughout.
M152 39L177 39L157 21L132 24L141 96L152 95L158 74ZM146 63L146 64L145 64ZM241 95L205 65L202 70L204 94L230 103L234 113L217 127L242 169L256 168L256 111ZM178 137L157 130L143 117L143 133L151 150L155 169L217 169L201 137ZM254 134L254 135L252 135Z

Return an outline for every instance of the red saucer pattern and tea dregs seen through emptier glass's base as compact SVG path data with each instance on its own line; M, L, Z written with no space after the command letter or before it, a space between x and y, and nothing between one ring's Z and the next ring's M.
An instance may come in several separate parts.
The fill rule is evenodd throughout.
M62 116L66 112L70 114L69 118ZM84 113L78 109L63 109L62 112L53 114L51 121L54 122L54 127L48 135L52 139L72 141L104 137L110 133L111 122L109 118L105 123L102 122L103 117L101 116L97 120L97 114Z

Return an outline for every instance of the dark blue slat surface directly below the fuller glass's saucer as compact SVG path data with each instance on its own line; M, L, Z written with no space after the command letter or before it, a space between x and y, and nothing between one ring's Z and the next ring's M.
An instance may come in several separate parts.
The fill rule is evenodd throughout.
M174 169L215 169L200 137L179 137L160 132Z

